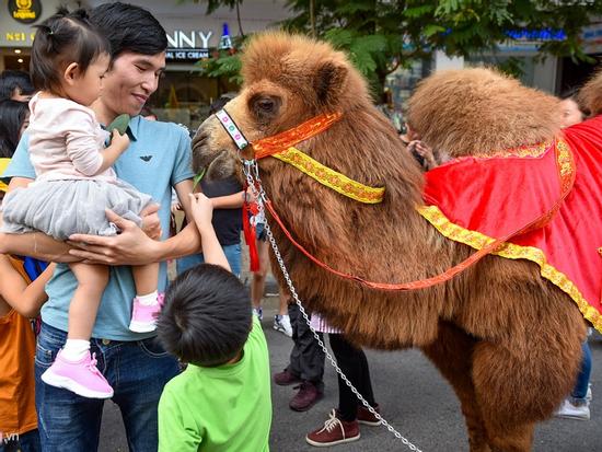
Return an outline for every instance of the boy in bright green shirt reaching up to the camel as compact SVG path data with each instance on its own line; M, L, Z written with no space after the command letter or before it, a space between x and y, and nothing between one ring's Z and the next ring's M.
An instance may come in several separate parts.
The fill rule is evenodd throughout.
M211 225L212 205L190 195L205 262L177 277L158 320L164 348L187 362L159 402L160 451L268 451L269 359L251 299Z

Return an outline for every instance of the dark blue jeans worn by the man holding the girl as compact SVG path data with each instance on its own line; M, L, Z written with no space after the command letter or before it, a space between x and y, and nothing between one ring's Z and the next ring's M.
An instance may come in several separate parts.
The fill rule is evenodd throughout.
M45 323L35 354L35 398L39 439L45 452L93 452L99 448L103 399L81 397L40 380L63 346L67 333ZM129 450L152 452L158 447L157 407L163 386L178 372L177 360L155 338L125 343L90 340L97 368L113 386L121 410Z

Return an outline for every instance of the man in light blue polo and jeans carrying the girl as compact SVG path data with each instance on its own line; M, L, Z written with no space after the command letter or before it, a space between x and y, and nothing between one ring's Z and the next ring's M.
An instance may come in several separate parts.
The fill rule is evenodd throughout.
M92 108L99 121L105 125L120 114L132 116L128 127L131 143L115 164L115 171L118 177L151 195L161 205L160 225L154 215L157 208L144 217L144 230L158 237L160 227L169 231L172 186L188 209L187 194L192 193L193 176L186 131L175 125L147 121L137 116L157 90L164 70L165 31L148 11L124 3L102 4L93 9L90 16L106 35L112 48L112 63L103 79L103 93ZM11 189L35 178L26 136L3 176L12 177ZM199 239L192 231L187 233L189 252L196 251ZM34 233L2 235L0 250L65 262L69 248L63 243ZM186 248L184 254L187 252ZM163 265L160 290L165 286L166 269ZM46 385L40 380L65 344L69 302L76 287L73 274L66 265L58 265L46 289L49 300L42 311L35 376L39 432L45 451L62 451L66 444L73 451L94 451L99 444L103 401L83 398ZM96 355L97 368L115 390L113 401L121 410L130 450L147 452L157 450L159 398L165 383L178 373L178 364L158 345L153 337L155 333L129 331L134 291L130 268L113 268L96 316L91 352Z

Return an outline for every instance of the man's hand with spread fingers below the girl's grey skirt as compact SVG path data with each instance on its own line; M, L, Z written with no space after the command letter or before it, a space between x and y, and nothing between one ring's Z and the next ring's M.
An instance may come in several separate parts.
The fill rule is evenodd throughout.
M106 210L106 218L121 230L120 234L109 237L73 234L68 242L73 246L69 254L82 258L86 264L147 265L157 262L159 242L150 239L136 223L112 210Z

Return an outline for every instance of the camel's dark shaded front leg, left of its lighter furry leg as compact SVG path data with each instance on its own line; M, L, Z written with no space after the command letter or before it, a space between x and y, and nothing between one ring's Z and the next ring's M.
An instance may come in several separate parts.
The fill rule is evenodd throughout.
M422 347L425 355L451 383L466 420L471 452L489 452L481 409L471 378L474 339L454 325L440 322L437 341Z

